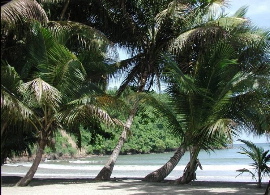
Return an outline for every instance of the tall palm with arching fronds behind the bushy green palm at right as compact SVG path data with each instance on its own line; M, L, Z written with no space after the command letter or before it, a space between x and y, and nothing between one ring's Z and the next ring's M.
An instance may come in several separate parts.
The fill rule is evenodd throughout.
M202 18L206 18L208 20L208 22L206 22L206 23L199 22L199 24L200 24L199 27L201 29L201 35L200 35L201 38L200 39L196 39L196 35L198 35L197 32L195 33L194 30L189 30L186 33L181 34L174 42L172 42L172 47L171 47L172 52L174 52L174 50L182 51L182 52L179 52L178 54L176 53L176 60L178 60L178 59L182 60L181 69L179 69L179 70L177 69L177 74L174 75L175 77L181 78L179 80L182 81L181 84L180 83L175 84L175 87L179 88L178 90L181 89L181 90L185 91L185 90L187 90L187 87L190 88L187 91L191 91L191 89L196 89L196 87L192 88L192 86L188 85L187 83L190 83L190 81L193 82L193 79L194 79L193 75L198 70L198 59L201 58L201 60L202 60L202 56L205 56L205 55L212 56L212 53L209 54L208 53L209 50L207 51L207 49L209 49L209 46L211 48L211 45L213 45L214 42L216 42L219 39L228 40L228 43L230 42L230 47L232 47L232 50L236 51L236 52L234 52L234 54L231 55L231 59L239 59L238 66L235 66L238 68L238 71L249 72L253 69L253 71L255 71L257 73L260 72L259 74L261 74L262 76L256 76L256 74L255 74L254 75L255 77L253 77L253 79L250 80L251 83L253 82L253 84L254 84L254 82L256 80L255 78L257 78L257 79L262 78L262 80L264 80L262 82L264 82L264 83L267 82L267 79L266 79L267 76L263 76L262 73L265 71L264 73L266 73L266 75L269 75L268 74L269 67L267 66L267 64L269 64L269 59L267 58L267 55L269 55L269 54L267 54L267 48L269 47L269 45L267 45L267 42L266 42L268 33L267 32L260 32L260 30L258 30L256 28L250 29L249 26L246 25L247 20L243 18L245 12L246 12L246 8L243 7L241 9L239 9L239 11L237 11L233 17L224 17L223 15L221 15L221 17L217 18L217 19L211 19L213 17L202 17ZM210 18L210 21L209 21L209 18ZM201 19L198 18L198 20L200 21ZM194 20L194 21L197 22L197 20ZM225 29L227 29L227 30L225 30ZM213 32L216 32L216 33L213 33ZM233 33L235 35L230 36L231 33ZM217 39L215 39L215 38L217 38ZM190 44L186 44L187 42L190 42ZM215 44L217 44L217 42ZM191 47L191 49L189 47ZM206 50L204 48L206 48ZM253 52L251 52L251 51L253 51ZM219 57L221 57L221 56L217 55L216 60L218 60ZM255 59L257 59L257 60L255 60ZM204 59L204 60L206 60L206 59ZM201 62L205 63L204 61L201 61ZM211 62L211 61L209 61L209 62ZM214 60L212 60L212 63L215 63ZM203 64L201 64L201 65L203 66ZM258 72L259 69L262 69L263 71ZM186 76L184 77L185 73L187 75L190 75L191 77L187 76L187 75L186 75L187 77ZM212 76L209 78L212 78ZM245 77L243 77L243 78L245 78ZM207 79L207 77L205 79ZM250 83L250 85L252 86L251 83ZM242 86L238 86L238 87L240 89L241 89L241 87L243 88L243 84L244 83L241 82ZM263 87L264 92L266 92L265 86L267 86L267 85L263 84L263 86L264 86ZM174 89L174 90L177 91L176 89ZM256 93L253 93L253 94L256 94ZM259 101L261 101L261 100L265 99L267 95L264 96L263 99L262 98L258 99L258 96L259 96L258 94L256 94L256 96L257 96L257 101L259 99L260 99ZM251 104L247 104L247 105L254 105L254 107L256 107L254 104L254 100L256 98L254 98L252 101L250 99L251 96L249 96L249 98L248 98L248 96L246 96L246 97L251 102ZM241 102L240 103L242 105L241 108L244 108L244 105L242 103L245 102L245 100L242 101L243 100L242 98L243 98L243 96L241 96L241 97L239 96L240 101L235 100L235 103L236 103L235 106L237 105L237 102ZM256 105L257 105L257 103L256 103ZM240 106L240 104L239 104L239 106ZM188 105L188 104L185 104L185 105ZM197 103L195 105L197 105ZM260 104L258 104L258 105L260 105ZM260 106L260 108L262 108L262 107ZM237 111L237 110L239 111L240 108L235 107L235 111ZM244 110L245 110L245 112L247 112L245 114L245 117L243 117L244 112L235 112L233 119L234 120L241 119L241 120L245 121L248 118L248 116L250 116L250 112L248 112L248 110L249 110L248 108L246 108ZM257 109L257 112L253 112L253 114L255 114L255 113L259 114L260 111L258 111L258 110L259 109ZM264 114L266 114L267 109L263 109L263 110L264 110ZM178 112L180 113L180 111L181 110L179 110ZM240 116L240 115L242 115L242 116ZM265 116L264 115L260 115L260 116L262 117L262 121L263 121L263 123L260 123L260 124L264 124L264 127L267 127L267 122L266 122L267 120L266 119L269 117L269 114L265 115ZM241 120L238 120L237 122L240 123ZM249 122L245 121L246 126L250 127L250 125L251 125L250 120L251 120L251 118L249 117ZM253 123L253 125L254 124L255 123ZM252 129L254 129L254 128L252 128ZM265 129L266 128L264 128L263 132L265 132ZM184 147L184 146L182 145L181 147ZM175 161L175 159L177 159L177 163L178 163L178 161L180 160L178 157L180 157L180 156L178 155L178 152L176 152L176 155L174 157L172 157L171 159L173 159L174 161ZM196 159L196 158L194 158L194 159ZM163 180L171 172L171 170L174 168L174 166L172 166L172 165L176 165L177 163L176 162L171 163L170 161L168 161L168 163L166 163L164 165L164 167L147 175L145 177L145 180L149 180L149 181ZM165 173L167 173L167 174L165 174ZM165 177L162 177L161 175L165 175Z

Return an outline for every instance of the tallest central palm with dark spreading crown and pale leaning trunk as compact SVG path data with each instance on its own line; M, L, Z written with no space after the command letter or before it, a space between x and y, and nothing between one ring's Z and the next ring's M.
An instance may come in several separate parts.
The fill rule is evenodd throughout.
M93 3L96 2L93 1ZM154 84L160 86L159 78L164 67L161 63L162 53L168 50L170 41L183 30L181 29L183 21L196 13L198 9L209 5L205 2L196 3L192 5L179 1L101 1L96 3L100 13L97 14L96 19L89 22L93 22L93 25L101 29L110 40L132 53L131 58L116 64L118 68L116 75L118 72L127 73L118 94L121 94L128 85L133 85L138 93L151 89ZM177 17L177 14L181 17ZM110 25L106 26L109 21ZM128 124L135 116L137 107L138 105L135 104L127 121ZM122 135L125 135L124 131ZM120 140L125 140L125 138ZM117 147L117 150L120 149ZM105 167L102 169L104 175L100 173L98 179L109 179L110 174L105 174L104 170Z

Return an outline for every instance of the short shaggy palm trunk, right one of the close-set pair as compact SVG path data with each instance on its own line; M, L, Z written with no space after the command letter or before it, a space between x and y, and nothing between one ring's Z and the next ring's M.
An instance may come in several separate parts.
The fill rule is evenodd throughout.
M177 184L188 184L192 180L196 179L196 170L198 166L202 169L199 160L197 159L199 155L199 148L193 148L193 152L191 153L191 159L189 163L186 165L183 175L176 180Z

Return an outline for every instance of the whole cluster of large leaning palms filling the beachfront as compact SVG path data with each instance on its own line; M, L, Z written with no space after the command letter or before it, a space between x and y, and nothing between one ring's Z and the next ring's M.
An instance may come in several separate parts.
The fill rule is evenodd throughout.
M13 0L1 5L1 161L37 143L29 184L55 131L79 126L123 128L97 180L110 179L143 103L153 105L182 138L174 156L146 181L162 181L186 151L178 183L195 179L200 150L226 144L241 129L269 133L269 31L245 7L229 17L226 1ZM116 47L130 58L118 61ZM124 75L115 96L110 77ZM171 105L148 91L167 84ZM108 114L132 86L126 121ZM126 101L127 102L127 101ZM143 102L143 103L142 103ZM173 109L171 109L173 108ZM121 109L121 108L120 108ZM102 128L98 128L99 130ZM78 142L79 143L79 142Z

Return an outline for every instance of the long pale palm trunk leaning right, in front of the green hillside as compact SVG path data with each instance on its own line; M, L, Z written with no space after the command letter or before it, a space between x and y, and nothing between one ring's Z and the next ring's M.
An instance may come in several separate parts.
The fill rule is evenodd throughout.
M132 111L129 114L129 118L126 121L125 127L122 131L122 134L118 140L118 143L116 145L116 147L114 148L108 162L106 163L106 165L101 169L101 171L98 173L98 175L95 177L95 180L110 180L115 162L119 156L119 153L121 151L122 146L124 145L126 138L127 138L127 131L130 129L131 124L133 122L133 119L135 117L135 114L137 112L137 104L135 103L134 108L132 109Z

